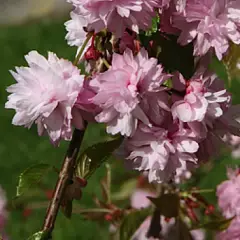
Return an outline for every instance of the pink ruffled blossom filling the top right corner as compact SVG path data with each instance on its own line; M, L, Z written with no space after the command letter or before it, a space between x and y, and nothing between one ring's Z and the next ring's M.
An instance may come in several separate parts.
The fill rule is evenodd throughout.
M237 0L189 0L185 11L176 12L174 26L181 30L179 43L194 41L194 55L214 49L222 59L229 41L240 44L240 5Z

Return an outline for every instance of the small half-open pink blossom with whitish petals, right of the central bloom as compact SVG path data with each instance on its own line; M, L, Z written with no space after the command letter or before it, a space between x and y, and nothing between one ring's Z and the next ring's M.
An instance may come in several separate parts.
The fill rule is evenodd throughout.
M215 74L200 71L186 81L178 73L174 81L175 85L178 84L178 89L184 89L183 86L180 87L181 84L186 88L183 100L176 101L172 106L174 119L202 122L206 115L218 118L223 114L221 103L228 102L229 95Z

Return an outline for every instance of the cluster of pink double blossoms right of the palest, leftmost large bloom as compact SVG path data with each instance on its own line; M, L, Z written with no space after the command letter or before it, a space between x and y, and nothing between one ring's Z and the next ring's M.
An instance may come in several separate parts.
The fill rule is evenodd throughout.
M171 82L172 87L166 87ZM112 66L90 82L101 109L97 122L125 136L126 159L148 171L149 181L190 176L197 163L213 156L226 135L239 135L238 106L223 82L204 67L191 79L163 72L141 49L114 54Z

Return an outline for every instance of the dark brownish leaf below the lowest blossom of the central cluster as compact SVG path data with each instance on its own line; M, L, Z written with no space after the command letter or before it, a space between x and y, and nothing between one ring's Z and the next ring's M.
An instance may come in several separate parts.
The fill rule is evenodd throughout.
M180 199L177 194L163 194L158 198L148 197L151 202L160 210L161 214L167 218L177 217L180 207Z

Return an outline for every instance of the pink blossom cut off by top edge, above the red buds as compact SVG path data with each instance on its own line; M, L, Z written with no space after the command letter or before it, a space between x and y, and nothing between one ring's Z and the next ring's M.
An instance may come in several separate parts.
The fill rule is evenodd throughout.
M154 8L159 0L68 0L83 16L89 30L99 32L107 28L121 37L126 28L134 32L151 26Z

